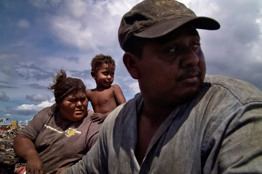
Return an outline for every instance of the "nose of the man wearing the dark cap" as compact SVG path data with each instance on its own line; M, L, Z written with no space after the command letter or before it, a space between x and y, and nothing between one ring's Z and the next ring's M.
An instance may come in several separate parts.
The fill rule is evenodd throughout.
M180 61L182 68L187 68L190 66L196 66L199 62L199 57L190 48L183 51Z

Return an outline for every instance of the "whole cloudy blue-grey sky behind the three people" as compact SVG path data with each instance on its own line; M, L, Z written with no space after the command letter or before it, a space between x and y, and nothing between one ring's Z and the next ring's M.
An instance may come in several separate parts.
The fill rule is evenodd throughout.
M113 84L127 100L133 98L140 90L123 64L117 32L122 16L139 2L1 0L0 119L27 124L51 106L54 95L47 87L60 69L82 79L87 89L95 88L90 62L100 53L116 61ZM206 73L236 77L262 90L262 1L180 2L221 25L219 30L198 30Z

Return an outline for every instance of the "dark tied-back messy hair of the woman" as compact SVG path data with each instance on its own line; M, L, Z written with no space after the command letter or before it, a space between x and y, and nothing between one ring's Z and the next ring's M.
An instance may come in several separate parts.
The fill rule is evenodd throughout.
M54 89L54 97L59 101L63 100L72 92L86 92L86 86L81 79L66 77L64 70L60 70L54 78L54 84L49 84L48 89Z

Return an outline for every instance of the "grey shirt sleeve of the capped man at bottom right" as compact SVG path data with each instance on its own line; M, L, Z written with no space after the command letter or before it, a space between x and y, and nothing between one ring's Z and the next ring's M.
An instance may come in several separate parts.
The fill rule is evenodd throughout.
M232 114L232 119L222 122L210 138L209 147L215 148L210 150L213 159L209 160L214 163L204 171L262 173L262 103L246 104Z

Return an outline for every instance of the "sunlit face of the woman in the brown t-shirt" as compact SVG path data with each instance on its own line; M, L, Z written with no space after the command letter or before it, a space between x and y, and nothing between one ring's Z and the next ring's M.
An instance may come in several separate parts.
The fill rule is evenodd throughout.
M88 100L82 91L70 93L56 104L60 108L60 116L72 122L81 120L87 114Z

